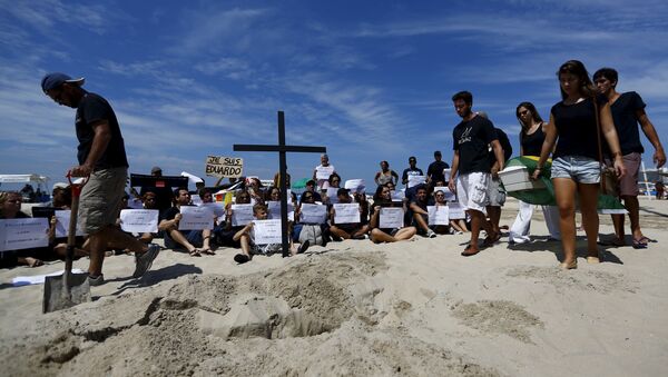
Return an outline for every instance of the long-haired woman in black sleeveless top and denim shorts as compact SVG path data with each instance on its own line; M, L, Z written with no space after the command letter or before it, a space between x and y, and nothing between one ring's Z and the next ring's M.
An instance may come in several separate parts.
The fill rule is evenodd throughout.
M551 178L559 208L559 229L563 248L562 269L578 268L576 259L576 195L579 196L582 226L587 234L587 261L600 262L597 247L597 212L601 167L598 161L598 123L612 157L618 177L626 175L610 105L597 90L589 73L578 60L561 65L557 72L561 101L552 107L540 159L532 178L538 179L548 155L552 153ZM600 119L600 120L599 120ZM602 141L602 140L601 140Z

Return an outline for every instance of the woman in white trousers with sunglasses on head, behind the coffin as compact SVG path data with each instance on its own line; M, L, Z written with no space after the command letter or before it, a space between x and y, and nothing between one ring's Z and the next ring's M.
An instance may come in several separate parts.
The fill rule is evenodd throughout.
M542 120L538 110L531 102L522 102L515 109L515 116L522 126L520 131L520 156L540 156L543 141L546 140L546 130L548 123ZM519 212L514 222L510 227L508 240L511 244L529 242L531 238L531 217L533 216L533 205L519 201ZM550 238L559 240L559 210L554 206L541 206Z

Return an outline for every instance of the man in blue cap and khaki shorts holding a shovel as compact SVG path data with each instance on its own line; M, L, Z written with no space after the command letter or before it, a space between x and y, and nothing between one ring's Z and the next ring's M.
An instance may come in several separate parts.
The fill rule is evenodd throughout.
M150 268L160 248L155 244L147 246L114 226L127 181L125 145L111 106L102 97L82 89L82 85L84 78L72 79L58 72L45 76L41 81L42 91L53 101L77 109L79 166L71 168L69 175L89 177L81 189L78 216L81 230L89 236L88 282L99 286L105 281L102 262L110 240L135 251L135 278Z

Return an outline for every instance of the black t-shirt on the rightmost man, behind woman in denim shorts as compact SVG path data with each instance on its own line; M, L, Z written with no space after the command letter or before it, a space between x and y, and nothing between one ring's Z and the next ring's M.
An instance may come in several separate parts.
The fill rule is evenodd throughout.
M645 152L645 148L640 142L638 118L636 117L636 111L641 109L645 109L645 102L635 91L622 93L610 105L622 155Z

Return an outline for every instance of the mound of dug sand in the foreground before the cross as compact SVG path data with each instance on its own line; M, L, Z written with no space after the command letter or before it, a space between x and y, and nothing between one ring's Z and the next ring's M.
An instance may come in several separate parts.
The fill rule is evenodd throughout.
M386 312L373 277L384 270L380 252L346 252L238 277L185 276L49 314L9 341L18 347L0 347L0 360L8 375L35 376L494 373L375 328ZM10 363L19 355L35 363Z

